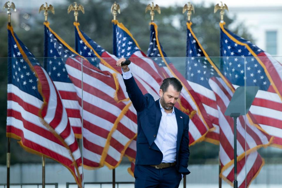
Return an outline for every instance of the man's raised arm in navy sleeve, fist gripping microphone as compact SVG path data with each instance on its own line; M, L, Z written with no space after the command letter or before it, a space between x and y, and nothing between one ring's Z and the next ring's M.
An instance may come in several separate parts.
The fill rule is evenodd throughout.
M142 94L141 90L139 89L137 83L135 82L128 65L121 66L121 62L125 61L125 58L120 58L117 61L117 66L122 68L122 77L125 83L126 92L137 112L142 111L146 104L147 100L145 96Z

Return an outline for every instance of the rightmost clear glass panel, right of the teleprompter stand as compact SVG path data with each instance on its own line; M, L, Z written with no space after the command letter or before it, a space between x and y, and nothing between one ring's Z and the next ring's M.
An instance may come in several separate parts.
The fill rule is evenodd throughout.
M246 57L246 62L246 88L259 87L246 119L253 120L250 127L260 130L252 134L259 136L253 136L259 149L246 156L247 177L257 174L250 187L277 187L282 183L277 176L281 172L277 163L281 156L281 57Z

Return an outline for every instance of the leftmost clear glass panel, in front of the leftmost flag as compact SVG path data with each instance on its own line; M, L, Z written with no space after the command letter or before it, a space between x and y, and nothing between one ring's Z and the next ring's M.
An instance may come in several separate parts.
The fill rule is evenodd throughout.
M80 58L76 61L81 66ZM5 78L2 79L1 88L6 90L2 92L1 107L3 128L6 127L8 116L6 134L11 137L10 183L18 184L18 187L20 184L25 187L41 184L42 154L46 162L46 186L74 182L72 174L75 174L76 169L82 169L79 167L81 157L74 129L78 127L80 133L76 136L79 136L80 108L74 104L81 104L81 99L75 98L76 95L80 96L81 91L76 92L70 87L73 82L68 76L70 71L66 70L70 58L2 58L1 62L5 73L5 66L8 65L8 76L2 74ZM82 75L75 77L81 80ZM76 102L71 103L70 100ZM7 106L8 110L5 110ZM71 115L77 116L78 120L73 120ZM5 143L3 148L6 149L6 142L2 143ZM6 155L5 149L3 154ZM6 157L3 159L6 160ZM6 183L4 165L1 166L1 174L0 183Z

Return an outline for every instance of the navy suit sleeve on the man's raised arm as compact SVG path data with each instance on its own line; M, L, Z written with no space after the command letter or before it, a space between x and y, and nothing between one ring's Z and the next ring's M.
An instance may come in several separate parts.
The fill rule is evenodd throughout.
M126 92L137 112L142 111L145 106L147 105L147 100L145 96L142 94L141 90L139 89L137 83L135 82L134 77L132 76L129 79L123 79Z

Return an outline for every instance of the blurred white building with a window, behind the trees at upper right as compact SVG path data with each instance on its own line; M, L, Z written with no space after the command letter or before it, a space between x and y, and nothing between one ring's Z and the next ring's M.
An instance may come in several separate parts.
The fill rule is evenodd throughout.
M267 6L267 1L265 3ZM229 12L225 14L236 16L236 22L230 28L244 24L256 46L273 56L282 56L282 6L228 8Z

